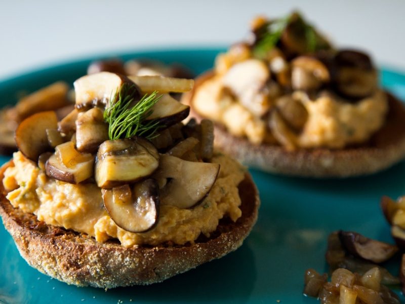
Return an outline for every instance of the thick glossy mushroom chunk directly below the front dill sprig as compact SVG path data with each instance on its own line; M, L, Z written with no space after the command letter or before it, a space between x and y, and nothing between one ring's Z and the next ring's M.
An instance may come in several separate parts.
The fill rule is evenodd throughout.
M97 152L95 178L100 188L112 188L149 176L158 165L156 148L142 137L107 140Z

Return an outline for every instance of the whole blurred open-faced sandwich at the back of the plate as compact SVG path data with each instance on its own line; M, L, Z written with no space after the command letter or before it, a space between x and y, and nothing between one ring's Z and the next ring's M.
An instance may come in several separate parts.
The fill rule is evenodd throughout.
M183 96L215 122L215 144L269 172L346 177L405 156L405 108L370 57L338 50L298 13L257 18Z

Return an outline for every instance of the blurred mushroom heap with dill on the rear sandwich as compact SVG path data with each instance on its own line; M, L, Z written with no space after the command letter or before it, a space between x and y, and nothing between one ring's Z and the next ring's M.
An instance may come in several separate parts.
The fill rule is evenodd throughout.
M238 100L265 123L266 136L247 133L249 140L289 149L299 145L308 120L302 94L310 100L327 94L356 103L378 89L378 73L366 53L334 48L298 13L285 19L256 18L250 40L220 54L214 72L222 78L223 89L215 97L221 106ZM298 91L300 97L294 94Z

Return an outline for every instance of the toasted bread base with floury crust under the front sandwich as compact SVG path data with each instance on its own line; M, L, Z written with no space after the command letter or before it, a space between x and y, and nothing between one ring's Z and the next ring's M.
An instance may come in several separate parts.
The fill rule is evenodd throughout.
M12 161L0 169L0 180ZM224 218L210 238L194 244L134 246L118 241L98 243L92 237L47 225L36 216L14 208L0 182L0 215L21 256L38 271L77 286L113 288L164 281L240 247L257 220L259 195L246 173L239 184L242 216Z

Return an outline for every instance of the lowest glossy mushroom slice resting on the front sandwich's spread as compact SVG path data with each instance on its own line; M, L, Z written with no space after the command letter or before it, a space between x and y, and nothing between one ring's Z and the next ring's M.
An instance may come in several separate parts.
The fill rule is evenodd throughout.
M128 184L102 189L104 207L122 229L140 233L152 229L159 215L159 186L146 179L131 187Z

